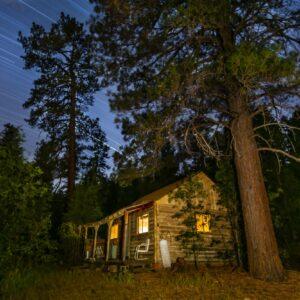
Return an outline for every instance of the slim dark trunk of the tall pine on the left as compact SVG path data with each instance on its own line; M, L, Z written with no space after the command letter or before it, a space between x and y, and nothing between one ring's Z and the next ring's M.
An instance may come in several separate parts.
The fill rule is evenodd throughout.
M70 204L70 202L74 199L76 178L76 93L73 88L71 89L70 101L71 107L68 137L68 204Z

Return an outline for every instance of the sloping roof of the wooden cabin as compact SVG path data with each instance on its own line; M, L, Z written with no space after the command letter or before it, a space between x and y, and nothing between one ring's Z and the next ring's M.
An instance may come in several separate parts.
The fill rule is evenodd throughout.
M204 172L199 172L199 173L195 174L193 177L199 177L201 179L205 178L205 180L207 180L210 184L212 184L212 185L214 184L214 182ZM100 221L85 224L84 226L85 227L100 226L102 224L108 223L109 221L111 221L113 219L121 217L122 215L124 215L125 211L135 210L135 209L138 209L139 207L141 207L145 204L148 204L150 202L158 201L163 196L169 194L171 191L173 191L178 186L180 186L186 179L187 178L185 177L185 178L177 180L171 184L168 184L158 190L153 191L150 194L147 194L147 195L139 198L138 200L134 201L130 205L127 205L127 206L117 210L116 212L112 213L111 215L105 217L104 219L102 219Z

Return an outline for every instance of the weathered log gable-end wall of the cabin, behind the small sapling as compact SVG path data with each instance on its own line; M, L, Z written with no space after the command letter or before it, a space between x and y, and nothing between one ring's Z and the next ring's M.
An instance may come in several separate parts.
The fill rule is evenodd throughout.
M201 248L198 261L201 264L224 265L233 261L233 241L230 222L227 218L227 210L218 204L218 194L212 184L204 182L208 189L207 201L204 205L204 212L210 210L214 221L210 226L210 232L201 234ZM177 236L186 230L182 219L174 218L174 214L180 210L177 203L170 203L169 196L165 195L157 201L157 234L158 240L168 241L172 262L178 257L184 257L187 261L193 261L191 254L188 254ZM161 262L160 250L157 258ZM228 257L228 254L230 256Z

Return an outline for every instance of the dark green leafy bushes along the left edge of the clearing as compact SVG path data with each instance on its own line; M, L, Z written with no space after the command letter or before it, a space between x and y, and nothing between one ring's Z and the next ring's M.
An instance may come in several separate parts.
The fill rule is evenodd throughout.
M0 278L16 268L53 260L51 195L41 170L23 158L20 129L0 134Z

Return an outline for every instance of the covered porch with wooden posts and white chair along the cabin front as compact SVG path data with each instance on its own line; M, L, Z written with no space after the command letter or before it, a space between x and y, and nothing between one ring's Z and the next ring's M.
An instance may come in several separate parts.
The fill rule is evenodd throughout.
M100 221L81 225L85 259L107 263L130 261L133 264L149 260L150 243L153 244L153 239L150 241L148 236L153 230L150 230L149 215L144 221L142 217L145 214L139 216L149 208L153 208L153 202L138 203L120 209ZM136 225L136 222L140 224ZM144 226L141 232L138 226ZM151 245L152 253L153 246ZM141 257L143 254L147 254L148 257Z

